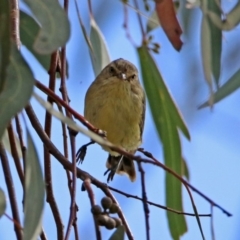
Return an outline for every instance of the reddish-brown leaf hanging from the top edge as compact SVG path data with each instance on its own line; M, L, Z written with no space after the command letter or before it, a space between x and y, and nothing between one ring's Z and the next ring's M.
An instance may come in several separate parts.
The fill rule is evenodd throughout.
M166 33L169 41L173 47L180 51L182 47L182 41L180 36L182 29L176 18L174 5L172 0L156 0L156 12L158 19L161 22L161 26Z

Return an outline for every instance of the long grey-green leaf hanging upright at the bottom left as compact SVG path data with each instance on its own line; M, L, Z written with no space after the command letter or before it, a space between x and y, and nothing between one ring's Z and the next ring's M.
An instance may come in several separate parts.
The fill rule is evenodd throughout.
M23 239L35 240L42 227L45 183L37 149L28 130L27 140Z

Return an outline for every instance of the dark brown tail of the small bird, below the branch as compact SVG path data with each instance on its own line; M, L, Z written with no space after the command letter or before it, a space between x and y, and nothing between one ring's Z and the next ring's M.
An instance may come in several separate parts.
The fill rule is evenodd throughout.
M132 182L136 180L136 171L133 160L123 155L112 156L109 154L106 167L111 171L108 180L113 178L115 172L118 174L126 174Z

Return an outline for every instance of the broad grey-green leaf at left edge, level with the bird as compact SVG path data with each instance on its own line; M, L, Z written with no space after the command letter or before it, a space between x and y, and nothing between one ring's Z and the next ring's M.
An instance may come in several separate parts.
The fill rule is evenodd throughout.
M25 107L32 95L33 74L15 46L12 46L4 91L0 93L0 139L15 114Z

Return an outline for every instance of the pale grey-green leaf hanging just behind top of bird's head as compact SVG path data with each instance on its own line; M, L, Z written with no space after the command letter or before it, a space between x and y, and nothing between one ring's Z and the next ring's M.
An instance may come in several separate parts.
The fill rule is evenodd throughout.
M110 63L110 57L104 36L93 18L91 18L90 24L90 41L93 48L93 52L90 51L90 57L95 76L97 76Z

